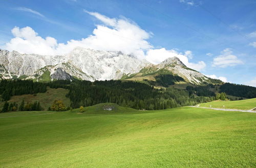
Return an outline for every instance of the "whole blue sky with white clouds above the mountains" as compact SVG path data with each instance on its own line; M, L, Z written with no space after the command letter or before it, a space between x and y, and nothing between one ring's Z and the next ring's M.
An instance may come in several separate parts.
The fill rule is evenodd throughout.
M178 57L211 78L256 87L255 9L255 0L0 0L0 48L118 50L153 64Z

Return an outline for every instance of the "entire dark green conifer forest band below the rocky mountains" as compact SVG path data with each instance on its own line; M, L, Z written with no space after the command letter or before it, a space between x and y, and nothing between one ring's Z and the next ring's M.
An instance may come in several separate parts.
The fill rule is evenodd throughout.
M210 91L213 85L188 86L186 89L168 87L173 80L159 76L157 83L166 88L156 89L154 86L142 82L105 80L55 80L51 82L34 82L32 80L0 80L0 95L6 101L2 111L12 110L42 110L40 102L8 103L11 96L22 94L45 93L47 87L68 89L66 95L70 98L70 107L91 106L98 103L111 102L121 106L135 109L166 109L198 103L209 102L216 99L225 100L226 93L234 96L256 97L255 88L226 83L220 87L221 94ZM239 92L237 92L239 90ZM53 109L49 107L49 109ZM63 108L64 109L64 108Z

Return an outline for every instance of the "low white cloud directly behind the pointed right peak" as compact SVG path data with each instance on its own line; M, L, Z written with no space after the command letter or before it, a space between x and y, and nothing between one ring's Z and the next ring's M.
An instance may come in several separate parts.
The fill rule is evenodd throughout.
M191 51L190 51L191 52ZM190 53L192 54L192 52ZM185 64L187 67L195 69L197 71L202 70L206 67L206 64L203 61L199 61L198 63L189 63L188 57L185 54L179 53L174 49L166 50L165 48L160 49L149 49L146 52L146 60L153 63L159 64L167 58L177 57L180 61Z

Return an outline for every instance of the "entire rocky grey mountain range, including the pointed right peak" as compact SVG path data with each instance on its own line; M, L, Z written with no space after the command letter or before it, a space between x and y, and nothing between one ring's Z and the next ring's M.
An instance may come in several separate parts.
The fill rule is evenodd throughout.
M221 83L186 67L178 58L168 58L154 65L120 51L77 47L65 55L22 54L0 49L0 77L53 80L155 80L156 75L172 74L195 85Z

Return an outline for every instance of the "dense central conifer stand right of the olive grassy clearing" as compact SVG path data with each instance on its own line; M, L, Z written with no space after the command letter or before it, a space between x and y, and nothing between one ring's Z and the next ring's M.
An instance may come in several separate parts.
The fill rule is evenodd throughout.
M214 100L190 96L187 90L154 89L145 83L120 80L74 81L67 96L73 108L111 102L135 109L166 109Z

